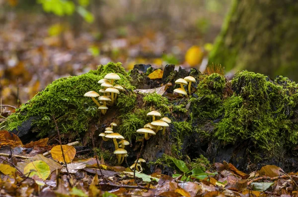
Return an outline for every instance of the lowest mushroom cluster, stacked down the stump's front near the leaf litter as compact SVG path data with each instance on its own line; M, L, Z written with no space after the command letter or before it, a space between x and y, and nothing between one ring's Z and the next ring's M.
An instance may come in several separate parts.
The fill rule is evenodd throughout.
M116 127L117 124L112 122L110 124L111 127L105 128L104 133L99 134L100 137L104 141L108 141L109 139L113 139L114 145L115 145L115 151L114 154L116 154L116 157L118 158L118 165L121 165L127 156L127 150L125 150L125 146L129 145L130 143L126 140L124 140L124 137L120 135L119 133L113 132L113 127ZM117 139L120 139L121 141L118 143Z

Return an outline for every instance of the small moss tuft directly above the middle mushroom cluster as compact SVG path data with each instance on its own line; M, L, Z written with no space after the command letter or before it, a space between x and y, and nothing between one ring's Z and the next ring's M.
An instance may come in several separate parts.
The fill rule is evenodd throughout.
M161 95L158 95L157 93L145 94L143 101L145 102L145 104L153 106L156 110L160 109L161 112L169 111L168 99L162 97Z

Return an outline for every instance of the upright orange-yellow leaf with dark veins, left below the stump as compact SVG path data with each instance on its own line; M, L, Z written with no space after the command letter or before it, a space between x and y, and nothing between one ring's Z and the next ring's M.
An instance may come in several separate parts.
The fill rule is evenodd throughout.
M76 152L75 148L72 146L68 146L68 145L62 145L62 149L63 149L66 163L71 163L75 156L75 152ZM64 163L60 145L53 147L51 149L51 154L52 154L52 157L54 160Z

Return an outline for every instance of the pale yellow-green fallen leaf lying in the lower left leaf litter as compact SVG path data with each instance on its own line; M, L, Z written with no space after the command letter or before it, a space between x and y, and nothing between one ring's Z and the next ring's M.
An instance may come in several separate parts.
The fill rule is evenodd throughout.
M50 173L50 166L42 160L32 161L24 167L24 174L29 175L29 177L37 175L39 178L46 180Z

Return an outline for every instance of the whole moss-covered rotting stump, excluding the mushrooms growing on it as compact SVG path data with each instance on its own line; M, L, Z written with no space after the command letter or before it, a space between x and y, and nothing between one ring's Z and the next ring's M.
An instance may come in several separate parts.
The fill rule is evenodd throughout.
M248 71L237 72L227 82L217 73L203 75L197 70L177 72L172 68L173 65L166 66L162 79L150 80L147 75L153 69L147 73L136 69L126 73L120 63L109 63L81 76L59 79L0 126L27 140L33 136L55 137L54 115L65 143L79 140L83 145L91 145L93 136L98 154L111 165L116 163L113 142L103 141L98 134L116 122L114 132L131 143L126 148L129 163L142 149L142 157L150 162L151 169L159 164L171 166L169 156L191 162L204 155L212 162L225 160L245 171L265 164L275 164L287 171L298 170L294 165L298 161L295 82L281 76L271 80ZM116 105L102 115L96 104L83 95L88 91L98 92L97 81L110 72L121 77L117 83L125 91L118 96ZM190 97L173 95L173 89L179 88L174 81L188 75L196 78ZM135 87L157 88L169 81L173 86L162 96L133 91ZM159 111L172 123L165 135L158 132L145 141L144 135L136 130L152 121L146 115L151 110Z

